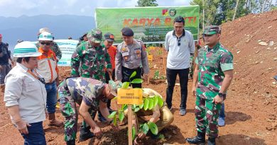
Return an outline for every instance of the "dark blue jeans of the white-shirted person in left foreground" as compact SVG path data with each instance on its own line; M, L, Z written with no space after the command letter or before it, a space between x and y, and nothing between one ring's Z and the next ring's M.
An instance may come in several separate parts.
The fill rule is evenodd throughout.
M43 122L31 123L27 127L28 134L21 134L24 139L24 145L45 145L45 133L43 131Z

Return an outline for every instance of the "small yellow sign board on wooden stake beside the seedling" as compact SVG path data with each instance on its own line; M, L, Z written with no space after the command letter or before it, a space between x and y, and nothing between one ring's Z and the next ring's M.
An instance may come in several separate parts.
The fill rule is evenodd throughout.
M131 89L119 88L119 90L117 91L117 103L141 105L143 103L142 89L141 88L131 88Z

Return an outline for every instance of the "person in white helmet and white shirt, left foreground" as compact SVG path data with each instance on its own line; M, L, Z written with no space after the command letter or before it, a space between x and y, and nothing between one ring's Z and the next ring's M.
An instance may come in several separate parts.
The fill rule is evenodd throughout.
M24 144L46 144L43 132L47 115L45 82L36 71L40 55L31 42L18 43L13 52L16 66L5 79L4 101Z

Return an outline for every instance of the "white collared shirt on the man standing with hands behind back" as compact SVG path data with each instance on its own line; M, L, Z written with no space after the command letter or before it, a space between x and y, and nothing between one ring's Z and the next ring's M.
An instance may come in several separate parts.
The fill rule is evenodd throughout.
M165 50L168 51L166 67L168 69L188 69L190 67L190 54L195 53L195 42L190 31L185 30L185 35L178 39L173 35L173 30L165 35Z

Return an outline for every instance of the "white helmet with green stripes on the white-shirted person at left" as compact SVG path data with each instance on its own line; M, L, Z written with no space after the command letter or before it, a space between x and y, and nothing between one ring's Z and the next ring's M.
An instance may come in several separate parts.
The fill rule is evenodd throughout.
M13 57L38 57L40 55L36 45L29 41L18 43L13 50Z

